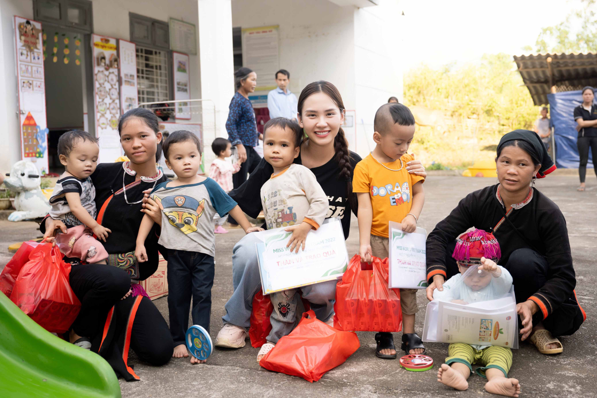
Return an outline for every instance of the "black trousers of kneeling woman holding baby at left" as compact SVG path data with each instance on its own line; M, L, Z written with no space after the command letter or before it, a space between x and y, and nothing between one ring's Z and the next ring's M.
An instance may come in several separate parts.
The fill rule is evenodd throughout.
M81 311L72 328L79 336L92 339L103 331L110 308L118 303L131 287L125 270L106 264L73 264L70 287L81 301ZM127 300L134 300L129 296ZM173 352L168 324L158 308L143 297L131 331L131 348L140 360L164 365Z

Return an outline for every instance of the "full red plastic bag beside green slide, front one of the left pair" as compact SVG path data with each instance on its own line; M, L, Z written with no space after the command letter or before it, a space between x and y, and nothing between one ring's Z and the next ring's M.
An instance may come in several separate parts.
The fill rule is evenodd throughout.
M69 285L70 264L60 249L45 243L33 249L21 268L10 300L48 332L64 333L81 309Z

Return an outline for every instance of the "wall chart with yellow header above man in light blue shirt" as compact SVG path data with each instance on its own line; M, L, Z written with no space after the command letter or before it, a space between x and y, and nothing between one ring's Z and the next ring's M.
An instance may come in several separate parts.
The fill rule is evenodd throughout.
M242 29L242 64L257 73L255 91L276 88L280 69L278 25Z

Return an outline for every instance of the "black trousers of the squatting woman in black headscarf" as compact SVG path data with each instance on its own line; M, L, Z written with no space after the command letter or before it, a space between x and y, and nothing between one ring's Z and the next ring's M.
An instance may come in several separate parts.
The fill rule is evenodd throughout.
M446 265L448 279L456 275L458 264L452 257L456 241L448 245ZM547 282L549 264L542 255L532 249L518 249L510 254L506 264L500 264L512 275L516 303L524 303ZM543 322L543 326L554 336L568 336L574 334L584 322L583 313L578 306L574 293L568 300L561 303L549 316L543 319L543 313L537 311L533 316L533 325ZM519 317L518 327L522 328Z

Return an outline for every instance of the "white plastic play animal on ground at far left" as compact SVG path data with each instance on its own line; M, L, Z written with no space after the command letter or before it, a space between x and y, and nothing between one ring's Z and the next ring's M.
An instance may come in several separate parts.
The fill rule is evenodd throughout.
M16 192L13 211L8 215L8 221L23 221L32 218L45 217L50 211L50 203L39 187L41 177L35 165L27 161L14 163L10 171L10 178L4 180L5 186Z

